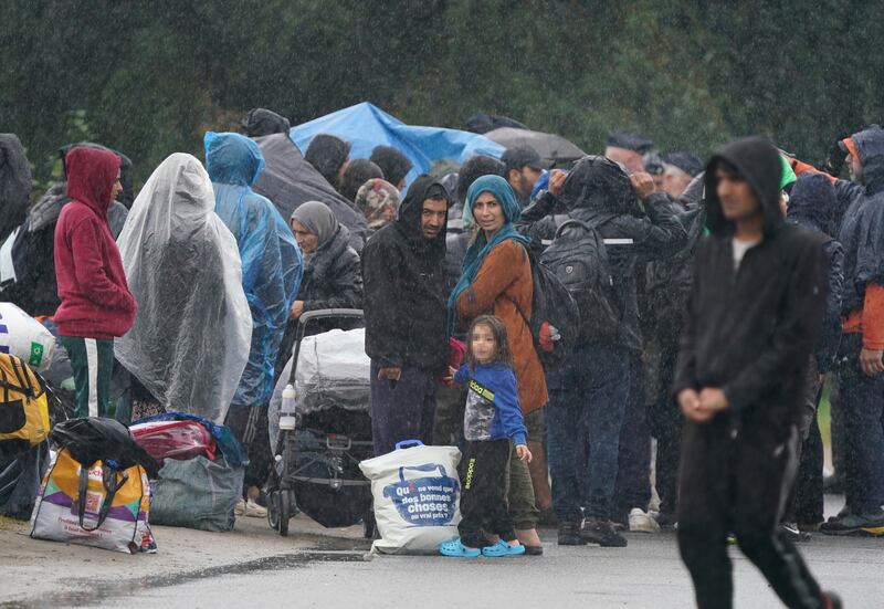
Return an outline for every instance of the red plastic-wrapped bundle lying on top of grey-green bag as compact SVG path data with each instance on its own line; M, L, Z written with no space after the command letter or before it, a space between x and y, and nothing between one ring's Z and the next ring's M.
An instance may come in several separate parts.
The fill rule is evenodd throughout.
M198 455L214 460L214 438L198 422L151 421L134 424L129 431L135 441L160 463L166 459L191 459Z

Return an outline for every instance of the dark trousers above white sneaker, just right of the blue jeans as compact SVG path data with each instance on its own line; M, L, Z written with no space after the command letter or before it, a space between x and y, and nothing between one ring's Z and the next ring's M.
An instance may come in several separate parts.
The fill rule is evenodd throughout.
M646 511L651 502L651 431L644 401L644 364L640 355L630 357L629 397L620 428L614 511L612 516L628 522L634 507Z

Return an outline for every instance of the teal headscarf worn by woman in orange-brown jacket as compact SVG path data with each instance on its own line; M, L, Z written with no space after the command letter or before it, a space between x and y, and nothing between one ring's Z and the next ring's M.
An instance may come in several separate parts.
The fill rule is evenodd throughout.
M499 230L491 238L491 241L486 239L484 231L480 230L476 234L475 241L473 241L473 243L466 250L466 256L463 260L463 273L461 274L457 285L454 286L454 291L449 297L449 334L451 334L454 329L457 297L464 290L470 287L470 284L473 283L476 273L478 273L482 263L485 261L485 256L487 256L494 248L507 239L518 241L525 246L530 244L530 239L519 233L513 225L513 223L518 220L519 214L522 213L522 208L516 200L516 193L513 191L513 187L511 187L509 182L507 182L501 176L482 176L472 183L470 189L466 191L464 216L466 216L469 212L469 214L472 217L473 206L475 204L478 196L483 192L491 192L494 195L494 198L497 199L497 201L501 203L501 208L503 208L505 221L504 225L501 227Z

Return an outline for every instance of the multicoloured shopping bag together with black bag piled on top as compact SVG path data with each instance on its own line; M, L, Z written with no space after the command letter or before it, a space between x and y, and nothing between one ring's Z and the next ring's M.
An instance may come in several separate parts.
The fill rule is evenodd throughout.
M56 452L31 514L31 537L117 552L156 549L148 471L156 462L113 419L59 423Z

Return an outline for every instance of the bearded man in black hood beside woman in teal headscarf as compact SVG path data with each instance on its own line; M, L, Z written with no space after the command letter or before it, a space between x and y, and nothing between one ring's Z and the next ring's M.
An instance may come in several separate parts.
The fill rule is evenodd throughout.
M448 367L444 274L449 196L430 176L409 188L396 222L362 251L366 354L371 358L375 453L430 443L435 379Z

